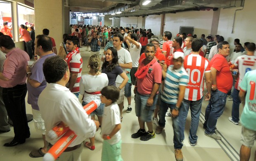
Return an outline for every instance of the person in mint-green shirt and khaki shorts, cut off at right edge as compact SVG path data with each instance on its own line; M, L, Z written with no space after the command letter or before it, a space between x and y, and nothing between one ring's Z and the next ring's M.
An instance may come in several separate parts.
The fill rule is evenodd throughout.
M251 148L255 142L256 133L256 70L248 71L240 83L239 98L244 102L244 110L241 115L242 133L240 147L240 161L249 161ZM254 159L256 151L254 153Z

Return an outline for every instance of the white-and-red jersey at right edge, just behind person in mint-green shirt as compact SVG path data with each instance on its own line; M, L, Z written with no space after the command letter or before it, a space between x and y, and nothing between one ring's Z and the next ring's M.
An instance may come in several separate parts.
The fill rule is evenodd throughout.
M235 59L235 63L238 64L238 78L235 83L235 89L240 90L239 85L244 79L244 75L247 71L256 69L256 56L254 55L241 55Z

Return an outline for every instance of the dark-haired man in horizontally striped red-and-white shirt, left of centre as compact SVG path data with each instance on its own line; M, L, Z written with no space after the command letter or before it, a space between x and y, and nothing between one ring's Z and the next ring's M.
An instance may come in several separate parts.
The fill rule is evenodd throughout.
M66 87L76 95L79 96L79 82L82 76L83 59L81 57L79 48L79 39L76 36L68 36L66 40L66 50L69 54L65 61L69 66L70 79Z

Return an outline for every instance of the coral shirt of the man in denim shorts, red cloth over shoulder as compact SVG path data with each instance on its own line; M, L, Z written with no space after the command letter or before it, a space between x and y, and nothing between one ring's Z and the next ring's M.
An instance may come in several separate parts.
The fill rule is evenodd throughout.
M144 61L139 66L145 66ZM141 95L150 95L154 83L161 83L162 79L162 67L158 62L149 66L152 69L150 73L147 73L144 79L137 79L137 91ZM158 93L158 91L157 91Z

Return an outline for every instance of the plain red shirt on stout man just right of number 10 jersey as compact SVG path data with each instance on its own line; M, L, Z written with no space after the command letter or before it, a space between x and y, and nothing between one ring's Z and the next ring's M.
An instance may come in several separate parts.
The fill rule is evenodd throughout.
M221 92L228 93L233 84L233 77L228 66L228 61L223 55L215 54L211 59L210 66L217 70L217 89Z

